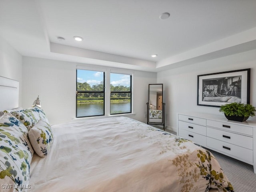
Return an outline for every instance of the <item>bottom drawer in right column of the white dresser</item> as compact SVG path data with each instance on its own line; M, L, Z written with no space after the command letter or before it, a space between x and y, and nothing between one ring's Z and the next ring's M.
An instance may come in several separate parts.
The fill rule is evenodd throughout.
M207 137L207 147L253 163L253 150Z

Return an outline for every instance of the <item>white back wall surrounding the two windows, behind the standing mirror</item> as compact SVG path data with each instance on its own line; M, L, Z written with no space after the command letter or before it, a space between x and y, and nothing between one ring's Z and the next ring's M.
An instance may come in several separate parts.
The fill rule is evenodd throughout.
M72 121L76 116L76 66L108 68L24 56L22 107L30 107L39 95L51 124ZM134 71L133 112L136 115L131 118L146 122L148 84L154 83L156 73Z

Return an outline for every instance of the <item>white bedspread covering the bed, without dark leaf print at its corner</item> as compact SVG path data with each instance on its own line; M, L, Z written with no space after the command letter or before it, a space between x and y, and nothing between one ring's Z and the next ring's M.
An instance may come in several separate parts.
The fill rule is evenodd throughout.
M200 169L183 162L183 168L174 166L179 156L202 148L147 124L119 117L54 125L52 130L48 156L34 154L28 192L181 192L190 183L193 191L206 191ZM212 166L219 169L214 160ZM186 180L183 169L198 176ZM228 182L225 175L223 180Z

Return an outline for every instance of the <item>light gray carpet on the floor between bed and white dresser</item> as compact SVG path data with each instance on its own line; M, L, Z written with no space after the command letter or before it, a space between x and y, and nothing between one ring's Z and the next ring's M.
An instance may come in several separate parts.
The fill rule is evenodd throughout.
M172 134L176 132L166 130ZM234 187L235 192L256 192L256 174L253 166L226 155L209 150L218 160L222 170Z

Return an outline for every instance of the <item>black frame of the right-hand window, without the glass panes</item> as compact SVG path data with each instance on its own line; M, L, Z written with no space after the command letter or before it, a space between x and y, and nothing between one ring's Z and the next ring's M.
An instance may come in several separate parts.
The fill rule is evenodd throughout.
M130 91L111 91L111 88L110 88L110 100L109 100L109 103L110 103L110 115L118 115L118 114L129 114L129 113L132 113L132 74L126 74L126 73L118 73L118 72L110 72L110 77L111 77L111 74L123 74L123 75L129 75L130 76ZM109 84L110 85L110 84ZM111 94L112 93L130 93L130 112L122 112L122 113L111 113Z

